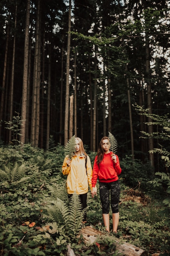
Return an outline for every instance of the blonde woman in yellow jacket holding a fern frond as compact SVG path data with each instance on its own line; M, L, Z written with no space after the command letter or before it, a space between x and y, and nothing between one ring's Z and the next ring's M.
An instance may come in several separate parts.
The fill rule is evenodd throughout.
M83 141L75 138L75 154L72 159L64 158L62 173L67 175L67 193L71 198L73 193L79 195L82 202L82 209L87 207L88 185L92 189L91 179L93 175L90 157L86 154ZM84 220L86 221L86 214Z

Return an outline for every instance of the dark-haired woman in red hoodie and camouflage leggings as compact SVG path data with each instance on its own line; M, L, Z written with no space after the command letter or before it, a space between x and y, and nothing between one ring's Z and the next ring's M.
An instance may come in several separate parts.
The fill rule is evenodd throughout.
M121 173L119 158L113 152L110 152L110 142L108 137L103 137L100 141L97 155L93 165L92 177L92 197L97 195L96 182L99 179L99 193L102 202L102 216L106 231L110 232L109 228L109 209L111 204L113 232L117 233L119 223L119 197L120 184L118 175ZM109 203L109 195L111 202Z

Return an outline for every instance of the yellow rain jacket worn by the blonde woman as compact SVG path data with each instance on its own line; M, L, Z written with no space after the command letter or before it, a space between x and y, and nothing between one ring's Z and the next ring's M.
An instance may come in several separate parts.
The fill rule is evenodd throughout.
M90 157L87 155L87 171L85 166L84 155L74 155L71 159L71 164L68 167L66 161L68 156L64 158L62 165L62 173L67 175L67 193L77 195L85 194L88 192L88 185L92 188L92 167Z

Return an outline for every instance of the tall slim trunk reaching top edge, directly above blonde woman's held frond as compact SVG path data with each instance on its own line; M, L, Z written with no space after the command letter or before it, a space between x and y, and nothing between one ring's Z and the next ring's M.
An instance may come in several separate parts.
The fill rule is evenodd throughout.
M64 119L64 144L68 141L68 110L69 110L69 67L70 67L70 43L71 43L71 0L69 0L68 11L68 39L67 39L67 58L66 58L66 103Z

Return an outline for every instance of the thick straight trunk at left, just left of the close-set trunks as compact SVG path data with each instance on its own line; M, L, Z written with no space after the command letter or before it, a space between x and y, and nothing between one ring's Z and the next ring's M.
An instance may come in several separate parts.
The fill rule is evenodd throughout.
M22 135L20 141L25 143L26 135L26 110L27 110L27 87L28 87L28 70L29 70L29 17L30 17L30 0L27 0L26 5L26 25L25 25L25 44L24 44L24 71L23 71L23 85L22 85Z

